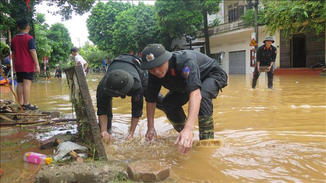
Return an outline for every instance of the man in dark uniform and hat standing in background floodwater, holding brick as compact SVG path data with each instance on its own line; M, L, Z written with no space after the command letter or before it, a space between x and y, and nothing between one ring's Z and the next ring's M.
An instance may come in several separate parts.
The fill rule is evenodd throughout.
M276 59L276 47L272 44L274 43L274 39L272 36L268 36L263 41L264 45L259 46L257 50L257 65L255 67L255 70L253 72L252 77L252 89L256 87L257 80L259 78L259 75L261 73L261 68L268 67L267 68L267 77L268 77L268 88L273 89L273 76L274 76L274 69L273 64Z

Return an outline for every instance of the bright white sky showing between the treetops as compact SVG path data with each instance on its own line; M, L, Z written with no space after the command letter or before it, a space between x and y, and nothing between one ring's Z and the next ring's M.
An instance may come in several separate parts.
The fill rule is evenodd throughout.
M101 0L102 2L106 2L107 0ZM123 2L131 1L134 4L138 4L140 0L123 0ZM145 4L154 4L155 0L143 0ZM98 2L98 0L97 0ZM90 12L85 13L84 15L75 15L73 13L72 19L69 21L61 21L60 15L52 15L51 13L48 13L48 10L50 11L56 11L58 8L56 6L48 6L46 1L42 2L41 4L36 6L36 12L45 14L46 23L49 25L52 25L54 23L63 23L67 29L69 30L70 37L72 39L72 42L74 46L79 47L83 46L86 41L88 40L88 30L86 27L86 19L90 15ZM80 39L80 43L79 43Z

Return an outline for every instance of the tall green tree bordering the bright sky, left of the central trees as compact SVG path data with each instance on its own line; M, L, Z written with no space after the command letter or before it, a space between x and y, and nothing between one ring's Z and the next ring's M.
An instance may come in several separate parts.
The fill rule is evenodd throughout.
M116 16L131 7L130 3L121 1L98 2L87 19L88 39L100 50L112 51L113 32Z

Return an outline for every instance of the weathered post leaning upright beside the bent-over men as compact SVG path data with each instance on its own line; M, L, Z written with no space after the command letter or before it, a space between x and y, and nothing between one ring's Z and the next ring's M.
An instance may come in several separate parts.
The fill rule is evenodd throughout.
M68 80L69 96L77 116L78 134L83 141L88 142L91 146L95 144L98 158L107 160L83 68L82 66L71 67L65 69L65 73Z

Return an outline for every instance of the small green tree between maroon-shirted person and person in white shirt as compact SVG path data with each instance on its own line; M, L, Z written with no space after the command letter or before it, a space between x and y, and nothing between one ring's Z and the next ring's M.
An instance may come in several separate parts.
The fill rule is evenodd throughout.
M54 23L47 37L53 50L50 54L50 66L64 66L69 61L70 49L73 47L68 29L62 23Z

